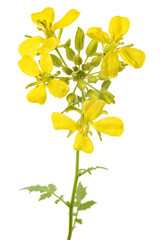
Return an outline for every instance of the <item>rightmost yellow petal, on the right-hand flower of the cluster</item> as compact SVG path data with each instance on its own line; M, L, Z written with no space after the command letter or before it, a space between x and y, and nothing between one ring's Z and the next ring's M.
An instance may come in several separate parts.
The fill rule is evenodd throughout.
M121 48L119 51L121 58L134 68L141 68L145 61L145 53L136 48Z

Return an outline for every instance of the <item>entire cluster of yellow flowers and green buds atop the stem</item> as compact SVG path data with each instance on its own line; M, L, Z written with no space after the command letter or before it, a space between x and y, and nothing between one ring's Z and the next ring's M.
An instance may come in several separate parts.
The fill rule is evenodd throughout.
M122 120L117 117L105 117L95 121L102 114L108 114L103 109L105 104L115 103L115 96L108 91L110 79L117 77L128 65L136 69L141 68L145 54L133 48L133 44L124 45L123 37L129 30L130 22L126 17L115 16L109 24L110 35L99 27L88 29L86 35L91 41L86 47L86 58L83 60L81 51L85 46L85 33L81 28L78 28L75 35L75 51L71 48L70 39L60 44L63 28L72 24L79 14L77 10L71 9L62 19L54 23L55 13L50 7L33 13L32 21L45 37L26 35L28 39L23 41L18 49L22 57L18 65L22 72L35 78L34 82L26 86L33 87L27 95L29 102L43 105L47 98L46 88L57 98L66 96L68 106L62 113L52 114L53 126L56 130L69 130L68 136L78 131L73 148L92 153L94 147L89 138L89 135L92 135L91 126L97 131L100 139L101 133L118 137L124 130ZM102 45L100 52L99 44ZM62 57L61 48L65 49L67 60L72 63L72 67L69 67ZM52 53L53 51L56 55ZM92 72L99 66L99 71ZM55 67L60 71L52 74ZM97 81L102 83L100 90L93 86ZM69 85L74 86L72 92L69 92ZM77 122L63 114L69 111L80 113Z

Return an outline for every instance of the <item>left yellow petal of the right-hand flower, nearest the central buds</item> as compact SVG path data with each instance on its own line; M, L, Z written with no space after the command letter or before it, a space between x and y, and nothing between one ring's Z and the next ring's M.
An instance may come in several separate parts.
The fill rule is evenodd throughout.
M103 32L102 29L98 27L89 28L86 34L97 42L108 43L110 40L108 33Z

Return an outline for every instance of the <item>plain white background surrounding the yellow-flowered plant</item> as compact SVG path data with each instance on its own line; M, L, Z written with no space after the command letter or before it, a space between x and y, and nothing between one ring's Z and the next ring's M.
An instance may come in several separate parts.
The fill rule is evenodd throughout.
M39 32L30 14L53 7L56 21L69 9L81 12L78 20L67 27L62 41L74 39L77 26L108 30L111 17L130 19L125 43L146 53L144 67L126 71L113 79L111 92L116 104L106 106L109 114L123 119L122 137L103 135L100 142L93 136L95 151L80 154L80 166L102 165L81 181L87 185L88 200L97 204L81 212L83 225L77 226L74 240L159 240L160 239L160 154L159 154L159 7L152 1L5 1L0 7L0 238L3 240L65 240L68 231L68 209L54 199L38 202L38 194L20 188L54 183L59 194L70 199L75 165L72 149L74 136L53 130L51 113L62 111L65 99L48 94L40 106L26 100L25 86L32 81L18 68L18 45L24 35ZM89 39L86 37L87 41ZM72 45L73 46L73 45ZM77 114L74 115L77 119Z

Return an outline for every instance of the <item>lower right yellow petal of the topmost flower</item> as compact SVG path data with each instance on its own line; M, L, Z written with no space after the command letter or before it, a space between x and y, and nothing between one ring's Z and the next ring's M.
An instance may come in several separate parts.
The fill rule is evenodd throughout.
M43 44L39 48L38 52L40 54L48 54L49 52L53 51L58 46L59 43L60 41L57 38L54 37L46 38L43 41Z

